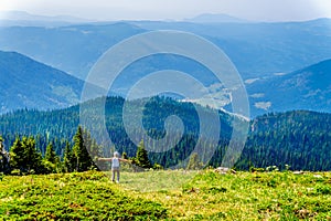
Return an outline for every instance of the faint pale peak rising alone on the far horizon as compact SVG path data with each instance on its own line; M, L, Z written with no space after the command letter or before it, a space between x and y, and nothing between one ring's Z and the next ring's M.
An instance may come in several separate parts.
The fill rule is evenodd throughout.
M242 23L242 22L248 22L244 19L238 19L228 14L224 13L204 13L200 14L197 17L194 17L192 19L185 19L188 22L193 23L222 23L222 22L231 22L231 23Z

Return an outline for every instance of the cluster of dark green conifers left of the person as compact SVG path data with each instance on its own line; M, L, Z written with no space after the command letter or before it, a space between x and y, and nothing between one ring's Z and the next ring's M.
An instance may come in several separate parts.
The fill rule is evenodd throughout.
M42 154L41 149L36 148L36 139L33 136L17 136L9 152L4 148L1 149L1 170L6 173L17 170L22 175L93 169L95 165L87 147L94 150L94 148L98 148L96 143L81 126L77 128L73 141L73 145L68 140L65 141L64 155L60 156L55 152L53 141L47 144L45 152Z

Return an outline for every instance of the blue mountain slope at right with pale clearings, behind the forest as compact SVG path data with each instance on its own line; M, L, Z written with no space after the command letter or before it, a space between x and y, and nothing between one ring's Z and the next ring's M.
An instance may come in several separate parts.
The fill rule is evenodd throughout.
M290 109L331 112L331 60L247 85L256 114Z

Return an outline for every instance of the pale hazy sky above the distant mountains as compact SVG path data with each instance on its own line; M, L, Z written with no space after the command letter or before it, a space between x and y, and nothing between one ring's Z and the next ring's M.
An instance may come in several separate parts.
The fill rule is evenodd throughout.
M331 0L0 0L0 10L95 20L182 20L227 13L259 21L331 18Z

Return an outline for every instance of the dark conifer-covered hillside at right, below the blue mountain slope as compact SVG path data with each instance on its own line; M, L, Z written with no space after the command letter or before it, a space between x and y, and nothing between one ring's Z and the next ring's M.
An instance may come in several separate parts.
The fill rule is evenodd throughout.
M330 170L330 156L331 115L297 110L255 118L238 166Z

